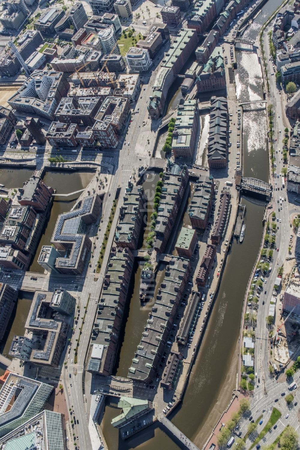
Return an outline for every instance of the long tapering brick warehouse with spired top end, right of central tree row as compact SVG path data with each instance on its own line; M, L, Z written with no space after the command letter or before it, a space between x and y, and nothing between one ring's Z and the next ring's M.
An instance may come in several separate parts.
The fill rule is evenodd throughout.
M164 176L161 199L155 221L154 248L158 252L164 252L166 248L188 185L187 166L181 168L176 164L172 164L168 169L169 171Z

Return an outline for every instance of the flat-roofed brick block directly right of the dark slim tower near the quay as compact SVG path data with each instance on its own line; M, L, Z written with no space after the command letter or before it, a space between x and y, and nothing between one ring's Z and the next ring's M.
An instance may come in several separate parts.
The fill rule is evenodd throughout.
M46 133L46 139L53 147L72 147L78 145L76 135L79 131L77 123L52 122Z

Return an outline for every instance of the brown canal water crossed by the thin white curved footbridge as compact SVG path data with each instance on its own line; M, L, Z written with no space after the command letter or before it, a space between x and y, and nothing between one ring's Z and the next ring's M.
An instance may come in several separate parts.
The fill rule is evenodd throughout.
M75 192L79 189L85 188L90 183L90 180L93 178L93 176L94 172L46 172L43 181L48 186L56 189L58 194L64 194ZM79 195L80 194L75 194L73 196L66 197L65 200L63 199L63 197L55 197L58 198L58 200L54 199L49 220L46 220L45 222L40 242L37 247L36 255L31 262L31 266L29 266L28 270L39 273L44 272L44 269L37 262L41 247L43 245L50 245L50 240L54 232L54 227L58 215L66 211L70 211Z

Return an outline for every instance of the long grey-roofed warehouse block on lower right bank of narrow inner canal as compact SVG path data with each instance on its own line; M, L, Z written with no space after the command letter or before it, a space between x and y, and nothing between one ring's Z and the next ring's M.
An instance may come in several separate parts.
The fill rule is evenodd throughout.
M163 267L166 270L129 368L128 377L137 382L151 383L157 373L191 270L188 260L174 256Z

